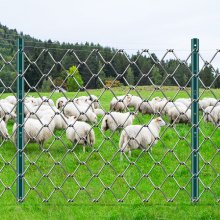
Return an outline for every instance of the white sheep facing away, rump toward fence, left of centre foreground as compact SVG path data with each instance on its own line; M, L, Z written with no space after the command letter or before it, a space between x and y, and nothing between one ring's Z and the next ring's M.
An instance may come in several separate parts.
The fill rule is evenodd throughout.
M70 117L68 119L66 137L71 142L83 144L84 153L87 144L91 146L91 148L93 148L95 144L95 133L92 127L86 122L76 121L76 117Z

